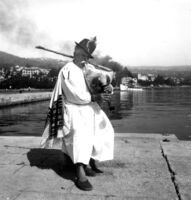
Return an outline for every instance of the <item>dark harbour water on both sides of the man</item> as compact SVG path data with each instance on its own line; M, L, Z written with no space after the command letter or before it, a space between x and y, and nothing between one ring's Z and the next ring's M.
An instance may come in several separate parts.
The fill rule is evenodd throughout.
M0 109L0 134L41 136L48 101ZM175 134L191 140L191 88L115 92L110 118L118 133Z

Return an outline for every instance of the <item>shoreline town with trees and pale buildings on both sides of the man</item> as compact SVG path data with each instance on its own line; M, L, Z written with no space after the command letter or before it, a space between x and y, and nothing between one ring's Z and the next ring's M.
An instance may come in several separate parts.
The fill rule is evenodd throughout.
M117 64L116 64L117 65ZM109 67L109 66L108 66ZM116 70L117 69L117 70ZM52 89L55 85L60 68L45 69L37 66L11 65L0 68L0 89L38 88ZM185 77L166 76L154 73L139 73L127 67L113 68L115 78L113 86L120 84L131 87L172 87L191 85Z

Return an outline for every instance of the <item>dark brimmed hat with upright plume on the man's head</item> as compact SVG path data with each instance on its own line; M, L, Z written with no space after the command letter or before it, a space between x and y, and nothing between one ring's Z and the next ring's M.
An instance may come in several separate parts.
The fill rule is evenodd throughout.
M75 43L76 43L76 46L82 48L88 54L90 58L93 58L91 54L94 52L96 48L96 37L92 39L83 39L79 43L77 42Z

